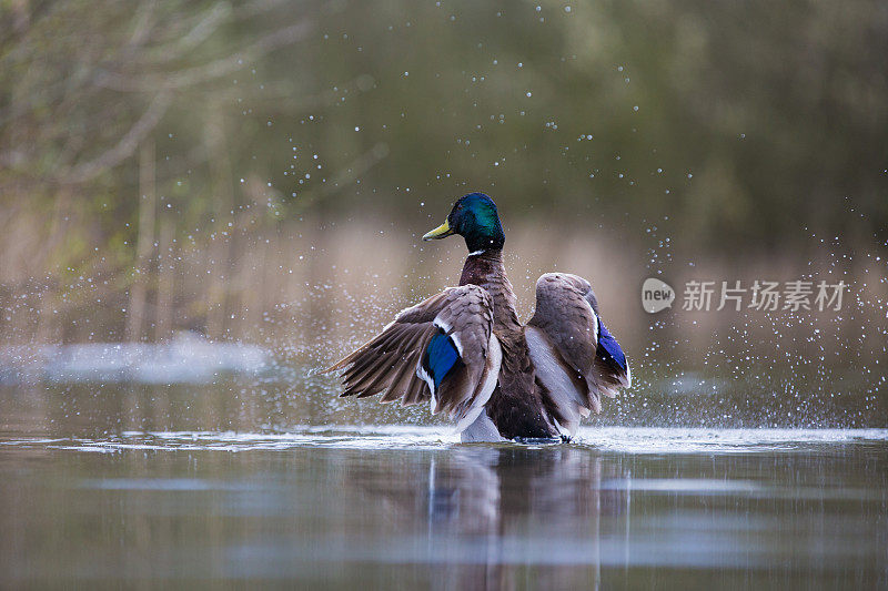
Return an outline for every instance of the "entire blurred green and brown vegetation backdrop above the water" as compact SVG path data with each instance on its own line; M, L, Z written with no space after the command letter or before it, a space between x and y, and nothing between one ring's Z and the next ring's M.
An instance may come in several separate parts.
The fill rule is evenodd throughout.
M886 55L857 0L1 2L1 340L322 363L455 282L418 236L484 191L525 314L557 268L642 364L884 376ZM648 316L648 276L851 288Z

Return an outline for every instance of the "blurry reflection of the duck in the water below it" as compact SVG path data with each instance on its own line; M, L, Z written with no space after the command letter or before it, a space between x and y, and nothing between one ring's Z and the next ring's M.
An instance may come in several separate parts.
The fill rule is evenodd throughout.
M424 521L414 556L432 565L435 588L598 587L601 517L628 527L626 491L601 487L627 476L618 463L566 446L464 446L424 459L362 481L402 532Z

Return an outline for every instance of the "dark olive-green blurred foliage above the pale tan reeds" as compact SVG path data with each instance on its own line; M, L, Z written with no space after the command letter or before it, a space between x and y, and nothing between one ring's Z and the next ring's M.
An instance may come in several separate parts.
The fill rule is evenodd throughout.
M657 224L728 257L888 238L888 12L864 0L24 0L0 30L6 285L125 289L147 193L143 243L168 218L194 252L304 215L425 227L470 191L507 232Z

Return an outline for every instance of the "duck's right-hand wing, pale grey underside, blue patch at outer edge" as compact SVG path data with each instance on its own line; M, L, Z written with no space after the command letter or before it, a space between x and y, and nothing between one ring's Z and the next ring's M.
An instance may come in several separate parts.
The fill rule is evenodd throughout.
M602 395L613 398L632 385L626 356L583 277L546 273L537 279L536 310L525 336L547 408L572 434L581 416L601 412Z

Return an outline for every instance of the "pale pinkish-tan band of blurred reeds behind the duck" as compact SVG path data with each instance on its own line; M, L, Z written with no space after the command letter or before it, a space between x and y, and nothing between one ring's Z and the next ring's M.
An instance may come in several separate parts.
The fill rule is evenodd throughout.
M443 217L448 204L440 207ZM824 358L826 344L841 356L829 355L825 363L839 365L885 354L879 344L888 294L879 263L871 258L847 264L825 251L813 263L791 257L738 263L704 255L687 258L695 262L693 267L667 263L657 275L649 254L618 232L589 232L582 223L567 222L512 224L507 213L504 217L507 271L523 317L533 310L542 273L577 273L593 282L609 328L636 359L650 346L653 359L697 364L716 345L731 354L754 350L758 359L777 355L779 360L781 355ZM265 231L252 230L249 216L235 220L204 244L171 238L175 216L161 212L152 233L139 241L150 246L139 257L138 272L127 261L113 266L97 256L92 274L69 272L40 281L29 266L40 261L22 256L17 266L4 266L4 344L164 340L174 330L193 330L211 339L290 349L321 363L362 342L398 309L454 285L465 256L460 238L420 242L422 232L436 223L431 220L406 225L379 216L324 224L305 215ZM668 254L660 252L662 257ZM647 276L659 276L677 289L672 310L642 310L640 284ZM755 279L808 276L849 284L840 312L749 310L748 294L743 312L716 312L717 291L713 310L682 310L687 281L739 279L748 288Z

